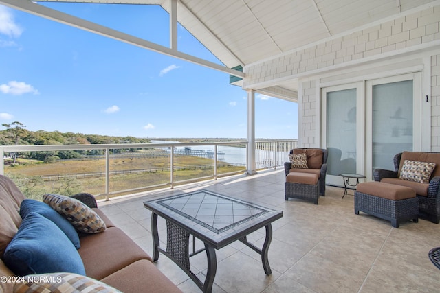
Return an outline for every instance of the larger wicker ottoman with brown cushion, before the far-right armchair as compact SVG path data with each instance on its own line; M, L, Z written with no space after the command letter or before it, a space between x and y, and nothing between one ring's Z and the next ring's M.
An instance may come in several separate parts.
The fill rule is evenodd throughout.
M419 199L410 187L366 182L358 185L355 191L355 214L359 211L391 221L395 228L403 220L419 221Z

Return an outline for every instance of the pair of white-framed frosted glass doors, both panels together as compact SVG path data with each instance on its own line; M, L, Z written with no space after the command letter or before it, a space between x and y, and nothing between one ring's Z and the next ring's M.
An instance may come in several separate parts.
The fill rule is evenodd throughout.
M398 152L421 150L421 98L421 73L323 88L327 183L343 186L341 173L373 180L373 169L394 169Z

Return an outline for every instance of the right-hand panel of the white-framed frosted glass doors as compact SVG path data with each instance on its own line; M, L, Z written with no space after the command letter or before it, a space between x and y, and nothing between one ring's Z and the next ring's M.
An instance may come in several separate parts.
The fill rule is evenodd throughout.
M366 82L367 178L394 170L395 154L421 150L421 74Z

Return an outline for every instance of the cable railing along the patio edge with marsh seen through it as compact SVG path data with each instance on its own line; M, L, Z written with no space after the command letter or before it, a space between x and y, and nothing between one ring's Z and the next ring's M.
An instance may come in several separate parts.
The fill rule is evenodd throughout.
M296 140L255 143L256 169L279 167ZM74 159L58 152L74 151ZM28 194L65 195L87 191L99 199L243 173L249 165L247 141L136 143L107 145L0 145L0 174ZM43 161L31 160L40 154ZM19 163L5 165L11 157ZM47 161L46 161L47 159ZM25 162L25 163L23 163ZM32 197L32 196L31 196Z

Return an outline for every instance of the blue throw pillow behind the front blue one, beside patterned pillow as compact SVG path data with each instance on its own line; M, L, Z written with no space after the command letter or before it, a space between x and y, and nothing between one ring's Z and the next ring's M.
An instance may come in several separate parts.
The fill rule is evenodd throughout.
M56 226L58 226L58 228L61 228L61 231L63 231L65 235L69 237L70 241L72 241L76 249L79 249L81 247L80 238L78 237L78 232L76 232L75 227L72 226L72 224L70 224L70 222L66 218L64 218L54 209L52 209L49 204L39 202L38 200L23 200L20 207L21 218L26 218L26 216L31 212L39 213L40 215L43 215L45 218L54 222Z

